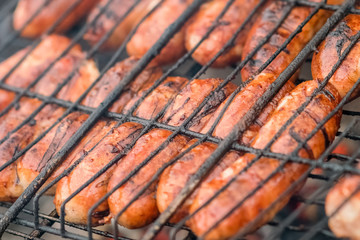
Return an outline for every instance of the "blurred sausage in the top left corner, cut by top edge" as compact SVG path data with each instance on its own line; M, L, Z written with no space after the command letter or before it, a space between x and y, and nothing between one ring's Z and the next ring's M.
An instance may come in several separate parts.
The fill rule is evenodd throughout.
M56 27L55 32L62 33L70 29L81 20L98 1L99 0L80 0L80 3L75 9ZM58 19L62 18L74 3L75 1L69 0L20 0L14 12L14 28L15 30L20 30L22 27L25 27L24 30L21 31L21 36L23 37L39 37L54 25ZM40 13L28 23L40 8L42 8Z

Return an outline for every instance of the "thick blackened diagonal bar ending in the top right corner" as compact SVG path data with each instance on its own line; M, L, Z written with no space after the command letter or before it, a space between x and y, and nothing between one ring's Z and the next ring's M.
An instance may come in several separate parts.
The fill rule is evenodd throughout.
M342 19L346 11L350 9L354 4L354 1L347 1L337 12L333 14L328 22L322 27L322 29L314 36L314 38L306 45L306 47L299 53L294 61L280 74L277 80L270 86L265 94L255 103L255 106L247 112L244 118L236 124L233 131L222 141L215 152L209 157L206 162L199 168L196 174L191 177L187 185L182 189L178 196L173 200L169 207L160 215L155 223L146 232L144 239L151 239L160 230L161 226L168 221L175 210L185 201L185 199L191 194L191 192L200 183L200 179L208 173L208 171L216 164L216 162L229 150L232 142L238 139L248 126L255 120L259 110L262 109L275 95L276 92L283 86L283 84L289 79L293 73L300 67L300 64L306 59L306 57L316 48L316 46L324 39L330 29ZM285 129L284 129L285 130ZM276 140L276 137L274 138Z

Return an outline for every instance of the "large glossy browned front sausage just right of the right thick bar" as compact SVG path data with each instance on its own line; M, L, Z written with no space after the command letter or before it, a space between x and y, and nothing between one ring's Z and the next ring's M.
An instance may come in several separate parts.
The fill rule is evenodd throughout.
M260 129L251 146L263 149L318 86L319 83L317 81L304 82L284 97L270 119ZM316 125L339 104L340 100L341 98L337 90L331 84L327 85L275 141L271 146L271 152L290 154L294 151L298 146L298 141L303 141ZM326 149L327 145L335 138L336 132L339 129L340 118L341 112L336 113L321 130L316 132L307 141L304 148L299 151L299 157L317 159ZM245 196L259 186L281 164L279 160L262 157L249 167L247 171L239 175L238 173L254 157L253 154L246 153L238 158L232 166L224 170L220 176L201 185L196 199L190 208L190 213L193 213L199 206L202 206L232 177L236 176L236 180L228 188L189 220L189 225L196 235L201 236L210 229L216 221L220 220ZM270 204L276 201L308 168L305 164L287 163L261 189L257 190L254 195L250 196L240 207L234 210L229 217L210 230L205 239L227 239L236 234L238 230L253 221L262 210L267 209ZM284 207L295 190L277 202L270 212L262 216L252 230L271 220Z

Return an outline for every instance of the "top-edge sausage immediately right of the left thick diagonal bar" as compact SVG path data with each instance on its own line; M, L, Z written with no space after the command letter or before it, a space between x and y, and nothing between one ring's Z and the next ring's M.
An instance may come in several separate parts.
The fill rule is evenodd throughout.
M200 7L200 10L186 27L185 47L188 51L193 49L205 36L227 2L227 0L212 0ZM218 26L193 53L194 60L205 65L215 57L259 2L259 0L235 0L224 17L220 19ZM251 24L252 22L247 24L236 38L234 45L215 60L212 64L213 67L226 67L241 59L241 53Z

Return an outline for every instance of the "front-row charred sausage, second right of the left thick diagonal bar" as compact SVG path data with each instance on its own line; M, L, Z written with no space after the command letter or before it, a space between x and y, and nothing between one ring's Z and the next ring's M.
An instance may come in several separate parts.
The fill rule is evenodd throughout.
M170 125L181 125L184 120L188 118L191 112L196 107L198 107L202 101L204 101L205 97L210 93L210 91L213 91L220 83L220 79L196 79L192 81L176 96L173 103L165 112L164 117L161 121L166 122ZM204 119L208 119L209 117L207 115L214 112L214 109L216 109L216 107L221 103L221 101L225 99L226 96L228 96L234 89L235 86L233 84L226 85L221 91L219 91L212 99L207 102L207 105L202 109L199 114L202 114L201 116L203 116ZM196 125L194 126L202 127L205 123L205 120L196 121ZM145 135L143 136L143 138L153 138L151 135L152 134L149 133L149 136ZM183 137L181 137L181 139L182 138ZM147 141L146 143L142 143L141 145L136 145L128 154L128 156L131 154L136 154L137 156L144 156L145 159L145 156L149 155L149 149L156 149L156 147L160 145L164 140L159 140L158 142L155 140ZM108 200L112 217L116 216L118 211L120 211L127 203L129 203L129 201L136 195L136 193L140 191L141 186L144 186L147 181L151 179L152 175L163 164L170 161L171 158L175 156L173 148L176 147L176 149L181 149L184 147L184 144L186 142L184 142L183 140L181 142L182 143L177 143L174 146L169 145L165 147L161 153L151 159L148 165L144 167L145 169L147 169L146 171L141 170L141 172L144 172L138 173L133 177L133 181L126 182L120 189L115 191L115 193ZM128 160L126 162L128 162L129 165L138 165L136 157L131 157L127 159ZM117 168L119 168L119 170L115 170L114 176L110 180L111 184L109 184L109 190L113 186L115 186L116 183L121 181L121 179L123 179L128 173L126 170L125 173L121 173L121 177L118 177L119 174L116 173L118 171L124 172L124 168L126 169L126 167L121 165ZM149 170L148 168L150 168L151 170ZM147 174L147 172L151 174ZM157 181L152 184L152 186L146 191L146 193L144 193L140 198L138 198L131 204L131 206L119 217L119 219L117 219L118 223L129 228L138 228L149 224L158 216L159 211L157 209L156 200L154 199L156 195L156 184ZM141 206L141 208L139 206Z

